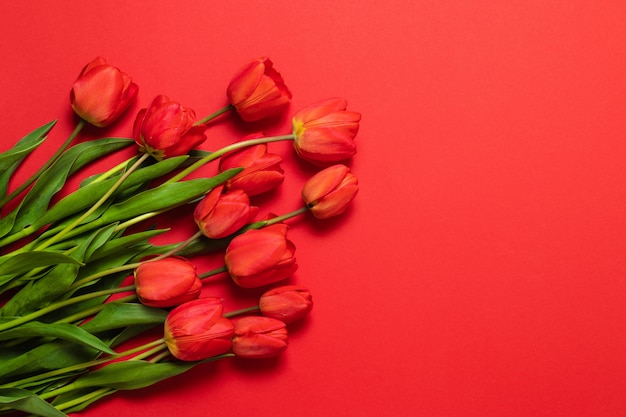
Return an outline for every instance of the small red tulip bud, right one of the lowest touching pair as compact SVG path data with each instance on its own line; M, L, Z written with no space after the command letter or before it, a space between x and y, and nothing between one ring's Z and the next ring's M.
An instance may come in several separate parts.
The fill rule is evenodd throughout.
M287 349L287 327L280 320L248 316L235 323L233 353L242 358L271 358Z

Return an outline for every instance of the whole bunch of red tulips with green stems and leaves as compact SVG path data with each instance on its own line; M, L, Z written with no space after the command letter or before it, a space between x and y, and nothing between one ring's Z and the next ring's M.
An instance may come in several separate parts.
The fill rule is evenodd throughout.
M198 149L224 113L254 122L288 109L282 76L259 58L233 76L228 105L208 117L158 95L136 115L132 138L75 143L86 124L114 123L137 93L129 75L96 58L71 88L75 130L11 192L13 174L55 123L0 154L0 413L64 416L207 361L276 356L287 347L287 325L313 306L307 288L284 282L298 268L285 222L326 219L350 205L358 181L344 163L356 152L360 114L331 98L295 113L291 133ZM300 208L259 218L251 197L284 179L282 158L268 150L276 141L291 141L319 169L303 184ZM128 146L136 156L67 190L82 167ZM216 175L187 179L212 161ZM154 244L166 230L150 219L189 205L197 233ZM199 274L194 258L209 252L221 252L224 266ZM203 291L203 279L220 273L241 291L262 288L258 303L225 312L224 300ZM162 337L120 349L154 329Z

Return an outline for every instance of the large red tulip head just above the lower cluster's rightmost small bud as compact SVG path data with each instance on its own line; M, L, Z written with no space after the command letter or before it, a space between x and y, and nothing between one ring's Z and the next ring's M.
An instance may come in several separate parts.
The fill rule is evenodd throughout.
M255 288L291 276L298 265L287 225L274 224L236 236L226 248L225 263L235 283Z

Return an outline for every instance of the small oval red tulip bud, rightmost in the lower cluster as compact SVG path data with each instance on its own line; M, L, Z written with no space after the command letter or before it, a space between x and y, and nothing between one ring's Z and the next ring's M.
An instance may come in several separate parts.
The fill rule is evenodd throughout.
M259 309L265 317L291 323L306 316L313 308L311 293L298 285L285 285L265 292Z

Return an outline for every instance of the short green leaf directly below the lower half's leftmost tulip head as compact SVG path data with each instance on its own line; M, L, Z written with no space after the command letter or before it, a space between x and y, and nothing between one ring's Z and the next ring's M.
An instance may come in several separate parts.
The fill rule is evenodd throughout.
M82 328L90 333L144 324L163 324L167 311L138 303L108 303ZM1 334L0 334L1 335Z

